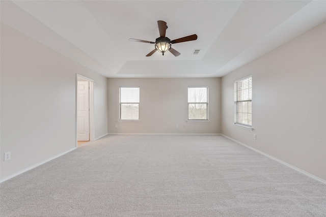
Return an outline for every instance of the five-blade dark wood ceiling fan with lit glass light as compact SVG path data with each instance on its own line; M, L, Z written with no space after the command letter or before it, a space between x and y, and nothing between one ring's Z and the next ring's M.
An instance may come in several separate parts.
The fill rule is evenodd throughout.
M180 53L173 49L171 47L171 44L176 44L180 42L187 42L187 41L194 41L197 40L197 35L191 35L191 36L186 36L183 38L175 39L175 40L170 40L168 37L165 37L166 30L168 28L167 23L162 20L157 21L158 25L158 30L159 30L159 38L155 40L155 42L150 42L150 41L144 41L144 40L139 40L139 39L129 39L131 42L144 42L144 43L150 43L150 44L155 44L155 49L149 52L146 56L151 56L153 53L156 52L161 52L162 55L164 55L165 52L170 51L173 55L179 56Z

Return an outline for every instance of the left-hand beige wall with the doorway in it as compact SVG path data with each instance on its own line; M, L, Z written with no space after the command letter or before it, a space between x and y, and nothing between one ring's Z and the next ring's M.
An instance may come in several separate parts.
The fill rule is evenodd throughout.
M95 138L105 135L106 78L1 24L1 179L76 146L76 74L95 82Z

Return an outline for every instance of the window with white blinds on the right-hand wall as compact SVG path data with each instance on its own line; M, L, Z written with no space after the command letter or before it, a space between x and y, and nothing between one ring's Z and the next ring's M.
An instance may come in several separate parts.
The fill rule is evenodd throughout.
M251 75L234 81L234 123L252 127L252 79Z

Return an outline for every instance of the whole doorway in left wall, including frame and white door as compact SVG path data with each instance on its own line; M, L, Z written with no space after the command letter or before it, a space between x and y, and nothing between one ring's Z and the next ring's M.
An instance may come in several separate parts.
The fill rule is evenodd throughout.
M93 107L94 81L76 76L76 147L94 141Z

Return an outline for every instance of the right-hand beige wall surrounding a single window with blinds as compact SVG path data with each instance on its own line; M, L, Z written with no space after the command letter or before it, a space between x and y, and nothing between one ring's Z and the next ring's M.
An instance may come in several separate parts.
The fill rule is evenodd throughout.
M233 126L233 82L250 74L253 131ZM326 180L325 82L324 22L222 78L222 133Z

